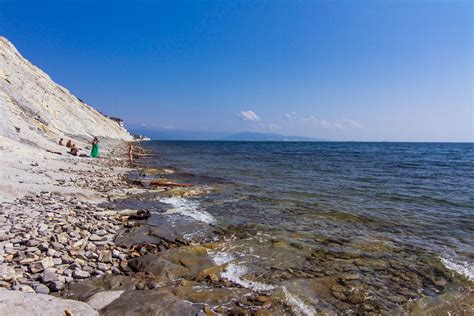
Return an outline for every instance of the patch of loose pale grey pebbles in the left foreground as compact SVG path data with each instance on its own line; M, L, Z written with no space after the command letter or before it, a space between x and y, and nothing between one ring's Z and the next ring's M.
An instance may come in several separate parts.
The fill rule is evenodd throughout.
M123 274L118 268L122 266L128 270L126 264L119 265L126 262L128 251L113 243L122 227L115 212L96 216L96 210L104 209L49 193L1 202L0 210L4 208L8 211L0 215L0 288L47 294L75 279Z

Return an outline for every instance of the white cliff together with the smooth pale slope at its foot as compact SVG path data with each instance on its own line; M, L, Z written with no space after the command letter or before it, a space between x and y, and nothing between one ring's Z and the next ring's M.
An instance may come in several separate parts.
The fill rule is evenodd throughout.
M94 136L101 141L102 156L112 143L133 140L124 128L56 84L0 37L0 201L42 190L77 193L54 183L74 176L64 170L88 170L91 164L101 166L101 160L71 156L58 140L71 139L81 154L88 155Z

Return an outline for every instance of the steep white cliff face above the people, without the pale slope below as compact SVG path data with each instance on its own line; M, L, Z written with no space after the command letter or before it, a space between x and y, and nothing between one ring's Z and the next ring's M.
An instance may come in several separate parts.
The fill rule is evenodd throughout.
M132 140L0 37L0 139L45 148L61 137L87 141L94 136Z

